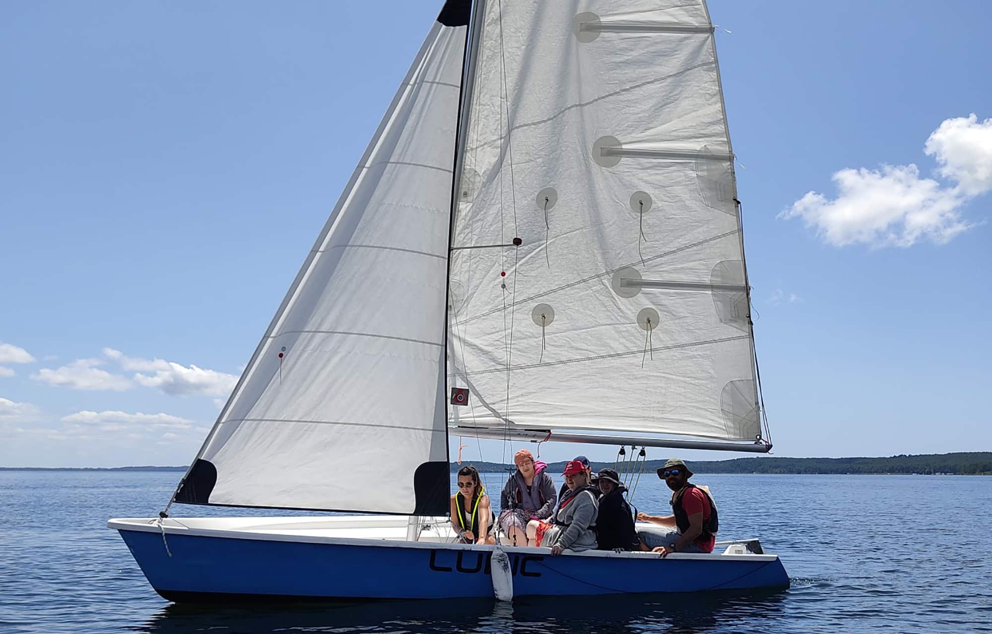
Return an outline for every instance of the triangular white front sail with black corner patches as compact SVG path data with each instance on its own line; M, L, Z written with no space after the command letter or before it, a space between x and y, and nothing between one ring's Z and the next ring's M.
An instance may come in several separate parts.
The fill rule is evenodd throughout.
M468 1L449 0L176 501L447 511L444 296L467 21Z

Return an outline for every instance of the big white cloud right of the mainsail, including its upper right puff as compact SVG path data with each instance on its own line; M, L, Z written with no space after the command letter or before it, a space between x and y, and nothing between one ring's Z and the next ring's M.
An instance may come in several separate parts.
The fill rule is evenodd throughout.
M925 151L935 157L940 175L956 185L921 177L913 163L845 168L832 175L836 197L809 191L779 218L802 218L835 247L911 247L924 239L946 244L978 224L961 216L961 206L992 189L992 120L947 119L930 135Z

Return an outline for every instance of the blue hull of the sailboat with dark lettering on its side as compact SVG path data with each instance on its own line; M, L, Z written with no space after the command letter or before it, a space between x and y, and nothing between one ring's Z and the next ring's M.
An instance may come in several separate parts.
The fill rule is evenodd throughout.
M492 547L309 543L120 530L145 577L170 600L492 597ZM508 548L515 596L786 587L777 557L552 557Z

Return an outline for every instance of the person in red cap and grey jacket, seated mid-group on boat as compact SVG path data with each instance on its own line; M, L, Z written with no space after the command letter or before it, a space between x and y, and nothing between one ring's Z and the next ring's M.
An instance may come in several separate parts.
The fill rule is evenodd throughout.
M596 517L599 489L589 483L589 474L580 461L568 461L562 472L568 487L558 501L554 523L536 526L538 545L552 549L552 555L596 548Z

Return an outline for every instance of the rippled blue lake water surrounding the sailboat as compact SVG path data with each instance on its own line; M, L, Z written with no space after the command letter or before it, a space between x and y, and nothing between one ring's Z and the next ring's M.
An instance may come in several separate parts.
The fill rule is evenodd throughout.
M0 632L992 632L990 477L695 476L721 538L760 537L781 555L784 591L256 608L165 601L105 527L153 516L179 477L0 472ZM651 476L634 502L667 499Z

